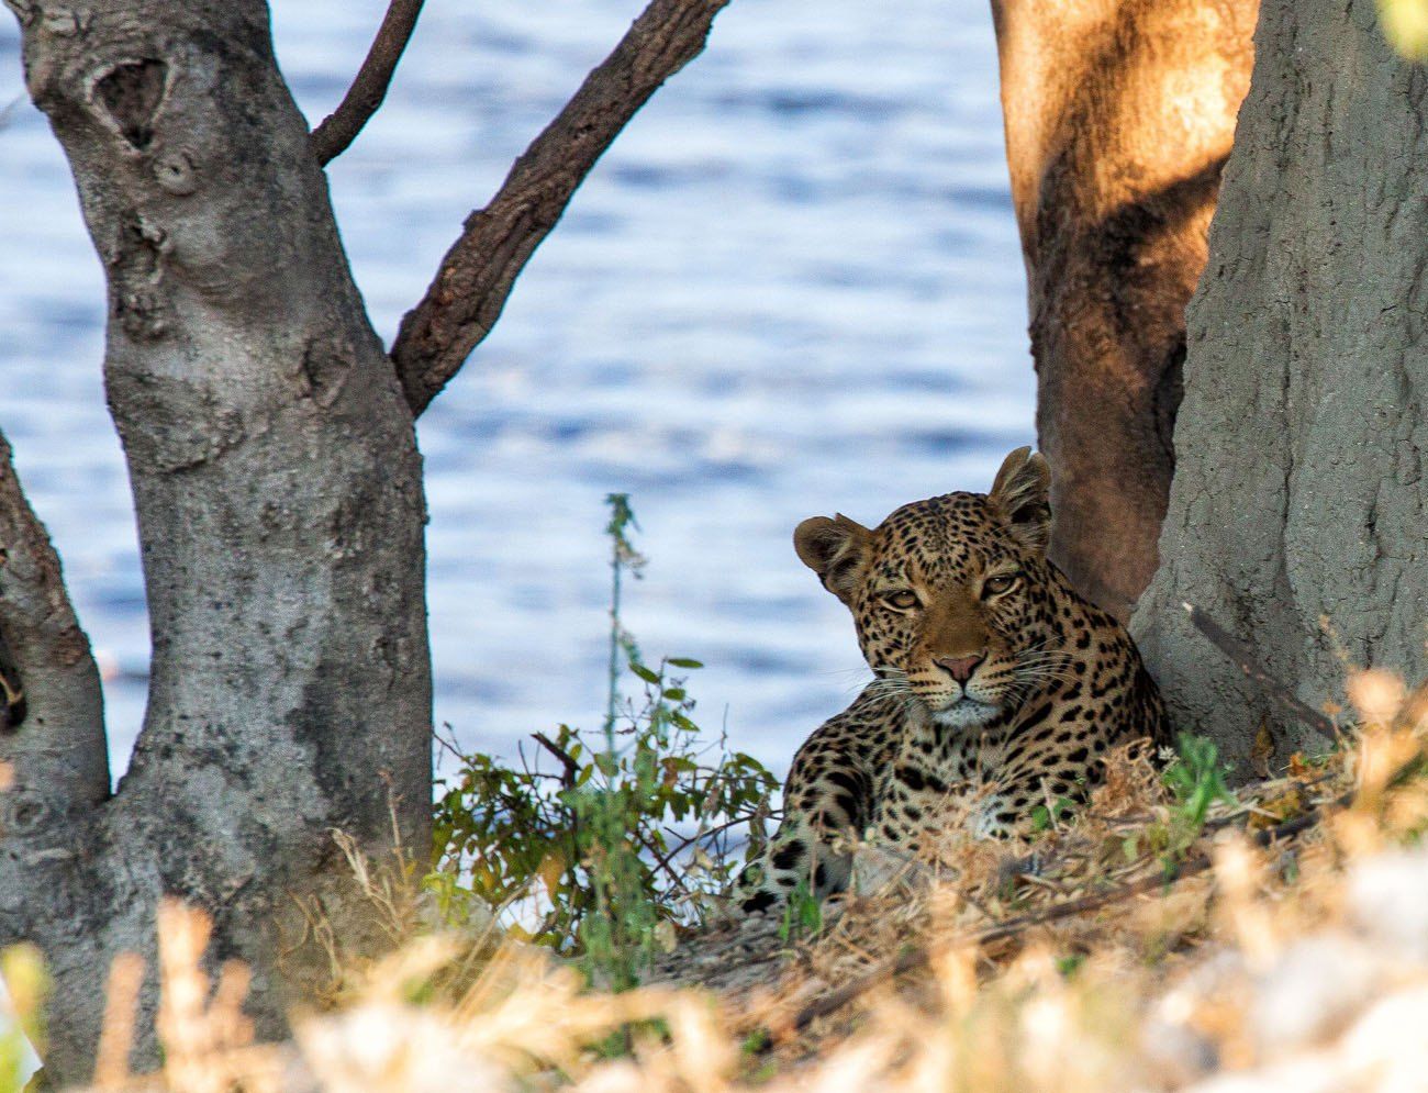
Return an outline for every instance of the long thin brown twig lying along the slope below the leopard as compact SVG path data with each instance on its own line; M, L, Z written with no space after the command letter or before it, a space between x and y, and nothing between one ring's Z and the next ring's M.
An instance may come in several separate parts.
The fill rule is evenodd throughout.
M1337 802L1338 804L1347 804L1352 794L1344 794ZM1312 827L1324 817L1324 809L1315 809L1314 812L1298 816L1292 820L1278 824L1277 827L1267 827L1262 832L1254 834L1254 842L1258 846L1269 846L1279 839L1289 839L1299 832ZM1060 919L1070 919L1077 914L1082 914L1088 910L1097 910L1110 903L1118 903L1120 900L1131 899L1134 896L1142 896L1147 892L1154 892L1155 889L1170 887L1178 880L1202 873L1211 866L1211 859L1205 853L1200 853L1195 857L1187 859L1174 872L1151 874L1141 877L1131 884L1122 884L1121 887L1111 889L1110 892L1101 892L1095 896L1084 896L1078 900L1070 900L1067 903L1058 903L1054 907L1048 907L1044 912L1037 912L1034 914L1021 914L1015 919L1008 919L1007 922L997 923L995 926L988 926L984 930L978 930L962 939L964 944L990 944L991 942L1001 942L1007 937L1014 937L1034 926L1042 926L1045 923L1057 922ZM873 987L880 983L885 983L908 972L915 972L918 969L927 967L928 962L932 959L932 953L925 946L917 946L915 949L908 949L901 953L895 960L890 960L867 974L853 980L851 983L833 990L818 999L814 999L807 1006L804 1006L794 1016L793 1022L787 1026L790 1033L801 1033L810 1024L813 1024L820 1017L827 1017L831 1013L837 1013L840 1009L847 1006L850 1002L857 999L860 994L865 994Z

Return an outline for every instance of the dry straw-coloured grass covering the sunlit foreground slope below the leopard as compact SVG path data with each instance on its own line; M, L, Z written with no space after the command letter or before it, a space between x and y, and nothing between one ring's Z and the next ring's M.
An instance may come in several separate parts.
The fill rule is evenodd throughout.
M1190 842L1175 843L1177 806L1145 757L1125 753L1092 806L1035 843L1035 863L1025 846L948 840L793 946L758 997L603 994L544 950L426 934L350 972L338 1012L256 1044L246 973L210 982L207 920L167 906L164 1066L124 1064L140 969L123 962L96 1087L1425 1089L1428 854L1404 847L1428 829L1428 699L1378 673L1351 697L1352 744L1217 806ZM1322 822L1292 839L1264 834L1315 810ZM1167 860L1187 876L1165 882ZM371 887L411 920L384 882ZM1094 906L1054 917L1075 900ZM898 956L907 974L891 974ZM845 1004L821 1012L830 997Z

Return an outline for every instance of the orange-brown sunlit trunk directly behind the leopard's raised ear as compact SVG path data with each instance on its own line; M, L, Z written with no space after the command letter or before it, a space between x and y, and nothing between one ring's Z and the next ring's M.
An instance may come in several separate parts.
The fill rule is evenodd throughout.
M1127 617L1175 467L1184 307L1257 0L992 0L1051 557Z

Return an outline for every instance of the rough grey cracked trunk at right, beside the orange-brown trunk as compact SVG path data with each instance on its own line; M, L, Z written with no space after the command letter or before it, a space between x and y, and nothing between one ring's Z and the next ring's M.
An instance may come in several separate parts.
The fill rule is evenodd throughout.
M1424 673L1428 71L1374 0L1264 0L1190 309L1162 569L1135 634L1182 727L1322 743L1192 633L1192 602L1309 706Z

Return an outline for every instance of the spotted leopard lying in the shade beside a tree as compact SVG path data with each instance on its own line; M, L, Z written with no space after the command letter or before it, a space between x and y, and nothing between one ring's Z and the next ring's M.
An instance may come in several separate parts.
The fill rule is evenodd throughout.
M851 612L874 679L795 753L783 820L735 889L744 912L845 892L858 842L918 854L951 824L1027 837L1038 810L1084 804L1108 752L1168 743L1131 636L1047 557L1050 484L1028 446L985 494L912 501L874 529L798 524L794 549Z

